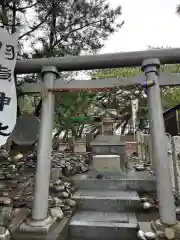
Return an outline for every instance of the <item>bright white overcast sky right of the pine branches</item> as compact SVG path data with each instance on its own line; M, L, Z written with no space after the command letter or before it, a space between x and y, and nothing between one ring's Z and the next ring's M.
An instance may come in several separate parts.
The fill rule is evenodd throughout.
M105 43L101 53L180 47L180 17L175 13L180 0L109 0L121 5L124 26Z

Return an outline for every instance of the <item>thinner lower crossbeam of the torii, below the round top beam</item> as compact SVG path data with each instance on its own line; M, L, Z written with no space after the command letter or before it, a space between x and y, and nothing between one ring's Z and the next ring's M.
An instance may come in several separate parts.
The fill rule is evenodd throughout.
M64 82L62 79L56 79L50 92L70 92L70 91L95 91L102 92L108 91L116 87L127 87L142 85L146 81L145 76L140 74L137 77L128 78L109 78L109 79L96 79L96 80L72 80ZM163 86L178 86L180 85L180 77L166 73L160 73L159 85ZM45 90L44 84L41 81L38 83L25 83L20 89L22 93L39 93Z

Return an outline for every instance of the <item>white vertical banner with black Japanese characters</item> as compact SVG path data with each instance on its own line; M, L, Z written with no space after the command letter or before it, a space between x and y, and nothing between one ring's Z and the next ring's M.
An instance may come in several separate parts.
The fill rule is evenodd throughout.
M17 95L14 68L19 32L12 35L0 28L0 146L4 145L16 124Z

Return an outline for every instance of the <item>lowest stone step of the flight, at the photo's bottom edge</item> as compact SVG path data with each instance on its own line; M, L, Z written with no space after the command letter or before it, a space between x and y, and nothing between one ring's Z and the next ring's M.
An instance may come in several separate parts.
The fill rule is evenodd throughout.
M77 212L69 224L73 239L133 240L138 223L133 213Z

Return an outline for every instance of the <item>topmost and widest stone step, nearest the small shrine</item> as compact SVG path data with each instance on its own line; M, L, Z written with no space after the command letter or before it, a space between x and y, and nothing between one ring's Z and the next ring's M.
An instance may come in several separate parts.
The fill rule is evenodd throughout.
M149 179L75 179L78 189L89 190L136 190L138 192L156 191L156 182Z

